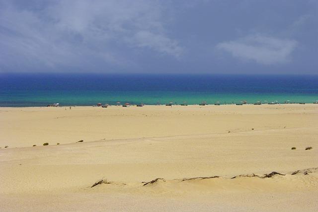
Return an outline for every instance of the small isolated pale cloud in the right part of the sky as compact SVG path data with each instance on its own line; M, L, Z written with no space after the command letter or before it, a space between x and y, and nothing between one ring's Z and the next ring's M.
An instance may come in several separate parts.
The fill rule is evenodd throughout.
M219 43L217 48L242 60L271 65L289 62L296 46L295 40L252 35L239 40Z

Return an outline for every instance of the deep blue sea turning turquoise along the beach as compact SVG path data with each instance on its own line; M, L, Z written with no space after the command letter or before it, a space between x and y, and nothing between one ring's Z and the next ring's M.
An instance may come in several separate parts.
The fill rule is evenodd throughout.
M313 103L318 75L0 74L0 106Z

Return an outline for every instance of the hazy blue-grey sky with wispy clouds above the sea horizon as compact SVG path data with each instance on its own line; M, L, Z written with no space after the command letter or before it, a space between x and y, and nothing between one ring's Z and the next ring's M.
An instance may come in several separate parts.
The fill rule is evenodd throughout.
M318 74L318 0L0 0L0 72Z

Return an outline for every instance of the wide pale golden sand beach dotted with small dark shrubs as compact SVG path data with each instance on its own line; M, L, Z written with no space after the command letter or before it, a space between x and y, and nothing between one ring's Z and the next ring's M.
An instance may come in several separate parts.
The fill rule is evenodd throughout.
M0 108L0 135L1 211L318 209L317 104Z

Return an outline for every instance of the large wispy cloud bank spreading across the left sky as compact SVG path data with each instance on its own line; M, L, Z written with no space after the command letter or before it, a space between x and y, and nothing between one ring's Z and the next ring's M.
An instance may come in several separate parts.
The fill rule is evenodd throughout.
M58 0L40 8L1 4L0 49L6 53L0 68L131 66L126 52L134 48L175 58L182 54L167 35L165 8L157 1Z

